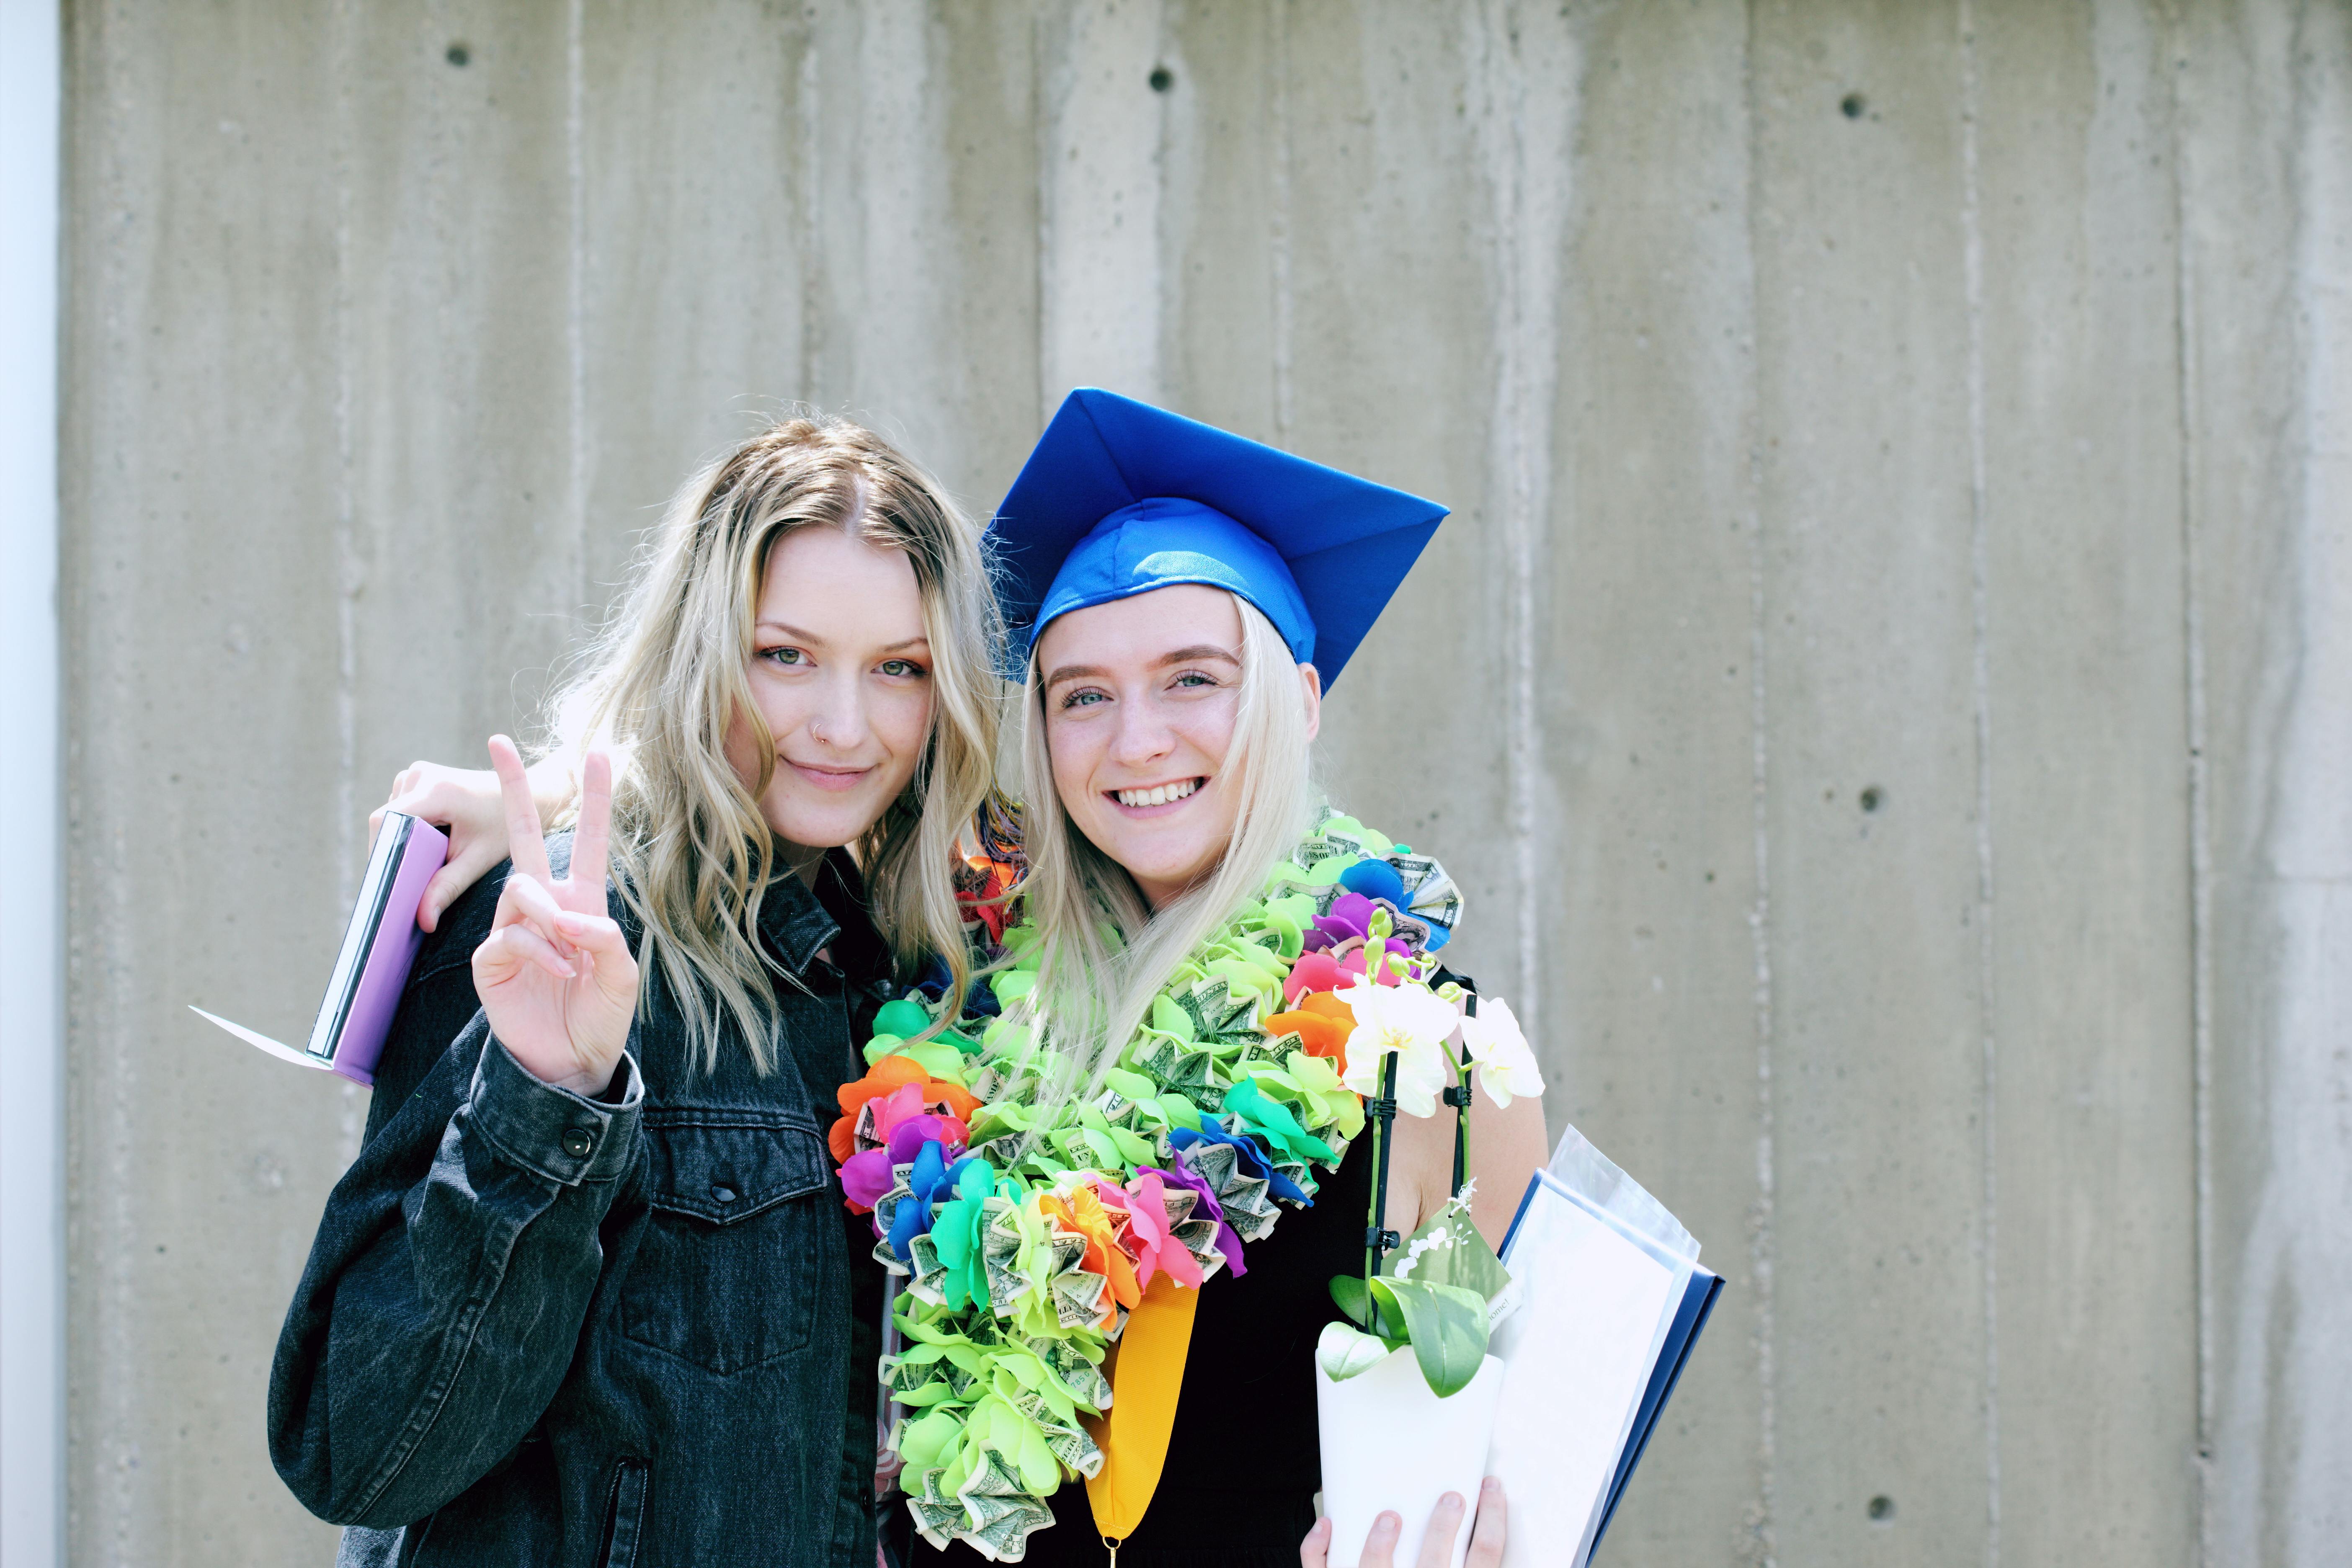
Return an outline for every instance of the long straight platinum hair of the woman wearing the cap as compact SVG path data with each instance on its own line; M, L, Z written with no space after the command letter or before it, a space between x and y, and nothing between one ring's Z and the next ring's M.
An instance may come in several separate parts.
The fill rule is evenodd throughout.
M1200 884L1152 910L1117 860L1070 820L1054 790L1047 750L1044 665L1030 654L1021 710L1021 773L1025 785L1028 917L1042 931L1037 987L1021 1020L1047 1046L1037 1086L1040 1126L1054 1124L1070 1100L1103 1093L1152 997L1223 922L1265 886L1265 875L1315 825L1315 780L1308 752L1308 708L1298 665L1282 632L1247 599L1242 611L1242 693L1232 748L1221 769L1240 790L1232 842Z

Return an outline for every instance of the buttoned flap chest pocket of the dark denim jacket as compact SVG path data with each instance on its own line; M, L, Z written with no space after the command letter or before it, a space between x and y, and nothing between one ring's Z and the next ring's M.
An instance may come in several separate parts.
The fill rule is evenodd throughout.
M621 1331L720 1375L807 1347L840 1222L816 1124L649 1105L642 1131L649 1213Z

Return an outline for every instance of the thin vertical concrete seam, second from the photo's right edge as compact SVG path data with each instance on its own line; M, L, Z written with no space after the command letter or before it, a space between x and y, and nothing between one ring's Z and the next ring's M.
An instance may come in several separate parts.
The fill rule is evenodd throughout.
M1976 1009L1983 1056L1983 1276L1985 1276L1985 1568L2002 1563L2002 1208L1997 971L1992 938L1992 522L1985 494L1985 223L1978 167L1983 82L1976 59L1976 5L1959 0L1959 165L1962 275L1969 315L1969 611L1976 705Z

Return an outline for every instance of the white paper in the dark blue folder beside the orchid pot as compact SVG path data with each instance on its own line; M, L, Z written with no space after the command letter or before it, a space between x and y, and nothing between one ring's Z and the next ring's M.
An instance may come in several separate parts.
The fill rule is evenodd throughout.
M1486 1474L1510 1500L1503 1568L1583 1568L1592 1526L1689 1260L1538 1175L1505 1262L1519 1309L1494 1335L1503 1399Z

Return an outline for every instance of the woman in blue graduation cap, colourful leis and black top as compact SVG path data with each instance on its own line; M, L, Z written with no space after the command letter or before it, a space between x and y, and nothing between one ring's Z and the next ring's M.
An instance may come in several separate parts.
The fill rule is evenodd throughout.
M964 1150L875 1117L844 1171L908 1276L884 1387L910 1415L910 1512L948 1559L1327 1547L1312 1359L1329 1281L1364 1269L1357 1091L1409 1053L1385 1213L1411 1232L1456 1178L1454 1114L1432 1112L1458 980L1430 952L1461 900L1435 860L1322 809L1308 748L1442 517L1080 390L990 527L1023 684L1023 924L981 997L995 1018L957 1020L953 1046L868 1046L870 1077L920 1058L983 1105ZM1383 1013L1416 1006L1414 1044L1383 1046ZM1489 1044L1501 1023L1489 1009ZM1517 1032L1486 1056L1470 1173L1498 1239L1545 1131Z

